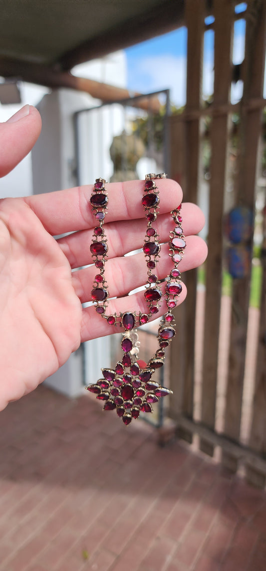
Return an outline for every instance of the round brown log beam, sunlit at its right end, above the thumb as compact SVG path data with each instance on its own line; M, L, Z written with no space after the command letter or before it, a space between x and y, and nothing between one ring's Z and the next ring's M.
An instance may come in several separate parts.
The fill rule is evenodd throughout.
M85 93L89 93L92 97L105 102L129 99L130 97L141 95L137 92L132 93L132 91L129 93L127 89L108 85L107 83L100 83L93 79L76 77L68 71L59 71L38 63L21 62L5 57L0 57L0 75L5 78L13 77L54 89L67 87L77 91L85 91ZM143 98L134 104L141 109L153 112L159 112L161 107L159 99L156 96L146 98L144 95Z

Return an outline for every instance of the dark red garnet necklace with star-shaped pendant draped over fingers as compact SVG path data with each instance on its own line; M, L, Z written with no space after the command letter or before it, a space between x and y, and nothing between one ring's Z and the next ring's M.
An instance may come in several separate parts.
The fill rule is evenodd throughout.
M160 397L169 395L172 391L162 387L152 380L155 369L162 367L165 359L165 349L175 335L173 308L177 305L177 298L182 291L180 271L178 264L182 259L183 250L186 247L180 215L181 205L171 211L173 229L169 236L169 255L173 260L173 269L166 278L165 299L167 312L163 315L158 329L158 349L150 358L148 364L142 368L137 361L140 343L135 327L147 323L155 313L159 311L159 301L163 296L155 268L159 258L161 246L159 236L153 227L158 215L159 191L156 179L166 178L166 174L148 174L145 176L144 206L145 216L148 223L144 239L143 251L148 268L148 286L144 296L147 303L147 312L114 313L107 315L108 285L105 281L104 268L107 262L107 237L104 234L104 219L107 212L108 194L105 180L96 179L91 196L93 214L99 226L94 228L91 244L91 253L94 258L97 274L91 292L92 300L96 303L96 312L107 320L110 325L116 325L124 329L121 341L122 357L114 369L104 368L103 378L96 384L88 385L88 391L95 393L96 398L104 401L104 411L116 409L117 415L128 425L132 419L137 419L141 412L153 412L152 403L157 403Z

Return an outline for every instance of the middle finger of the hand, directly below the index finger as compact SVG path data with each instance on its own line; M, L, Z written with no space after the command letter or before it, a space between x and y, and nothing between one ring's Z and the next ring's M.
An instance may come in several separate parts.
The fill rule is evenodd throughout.
M204 215L196 204L184 203L181 210L183 232L185 236L198 234L204 226ZM158 216L155 226L161 242L168 242L169 232L173 228L173 219L170 214ZM147 223L145 219L122 220L105 224L104 231L107 236L108 257L124 256L128 252L138 250L144 243ZM75 232L58 240L58 244L67 257L72 268L86 266L93 262L89 246L92 242L92 230Z

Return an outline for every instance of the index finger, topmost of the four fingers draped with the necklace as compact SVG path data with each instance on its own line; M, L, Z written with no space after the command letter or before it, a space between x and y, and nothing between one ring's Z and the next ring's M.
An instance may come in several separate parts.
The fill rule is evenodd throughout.
M159 189L159 212L163 214L177 208L182 200L182 190L170 179L156 180ZM94 186L68 188L47 194L27 196L25 202L32 208L44 228L53 236L97 226L89 199ZM144 207L144 181L130 180L124 183L109 183L108 213L106 222L142 218Z

